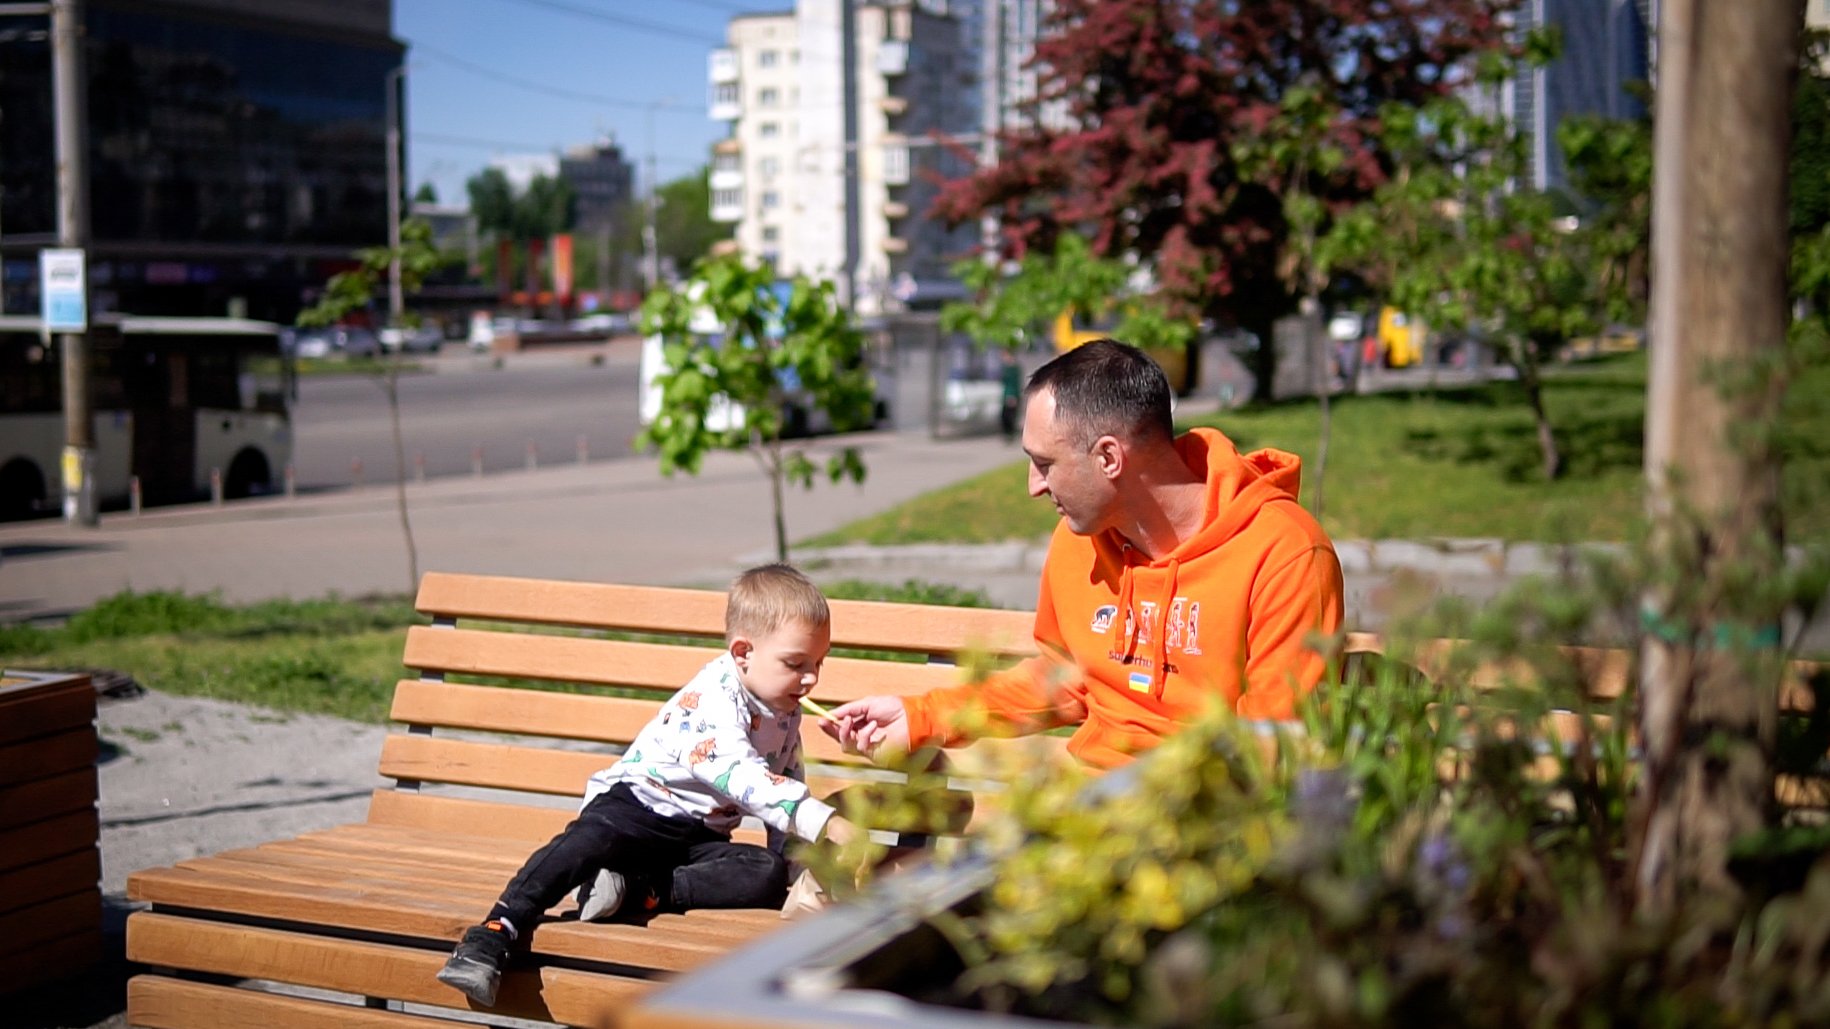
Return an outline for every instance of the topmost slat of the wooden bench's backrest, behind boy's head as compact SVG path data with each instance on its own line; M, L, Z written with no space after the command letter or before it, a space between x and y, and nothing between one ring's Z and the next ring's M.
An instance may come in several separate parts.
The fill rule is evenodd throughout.
M706 637L725 634L725 595L708 590L430 571L421 579L417 608L452 619ZM974 648L999 655L1036 652L1030 612L860 601L831 601L831 608L833 646L906 654Z

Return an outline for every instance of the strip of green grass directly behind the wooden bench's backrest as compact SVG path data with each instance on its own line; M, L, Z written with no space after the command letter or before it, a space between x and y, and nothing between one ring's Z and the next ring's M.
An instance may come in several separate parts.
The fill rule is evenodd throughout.
M836 582L829 595L990 606L983 591L915 580L899 586ZM426 619L403 597L229 606L218 597L130 591L79 612L60 628L0 626L0 665L112 668L167 694L379 723L388 718L393 685L406 674L401 654L412 624L426 624ZM677 643L675 637L651 639Z

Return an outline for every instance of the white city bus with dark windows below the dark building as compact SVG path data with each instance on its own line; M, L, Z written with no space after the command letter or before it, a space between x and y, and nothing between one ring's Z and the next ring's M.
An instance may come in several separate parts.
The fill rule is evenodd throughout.
M51 337L55 341L55 337ZM95 500L123 505L278 489L296 383L280 328L247 319L101 315L90 322ZM59 509L62 366L35 315L0 315L0 518Z

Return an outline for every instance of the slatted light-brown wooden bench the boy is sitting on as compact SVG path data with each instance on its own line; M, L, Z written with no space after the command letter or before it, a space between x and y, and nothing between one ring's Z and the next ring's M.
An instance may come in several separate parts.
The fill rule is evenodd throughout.
M375 791L366 822L128 877L128 897L150 906L128 919L126 956L152 969L128 983L130 1025L454 1025L448 1009L470 1005L434 974L458 936L716 654L725 595L432 573L417 606L434 624L408 630L417 677L395 688L399 731L379 765L393 787ZM834 654L814 698L957 681L942 661L1027 654L1030 624L1028 612L834 601L834 648L873 654ZM862 771L813 720L805 745L816 793ZM492 1013L609 1025L659 980L781 925L763 910L547 921Z

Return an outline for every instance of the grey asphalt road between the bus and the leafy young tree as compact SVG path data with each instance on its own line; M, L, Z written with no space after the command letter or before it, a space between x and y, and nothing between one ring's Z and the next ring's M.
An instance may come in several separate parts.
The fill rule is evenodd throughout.
M630 458L635 417L633 361L602 364L540 363L490 368L468 355L445 357L447 372L403 374L401 434L408 476L425 463L428 478L472 472L481 449L485 472L527 467L534 449L544 465L575 463L584 436L593 461ZM300 491L344 487L362 463L364 483L393 482L388 399L370 375L313 375L298 385L293 408L293 465Z

